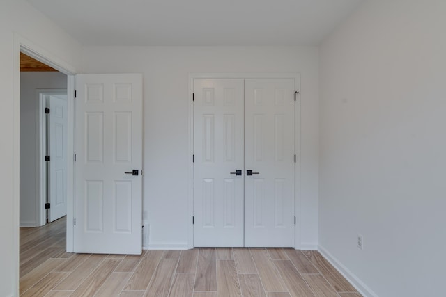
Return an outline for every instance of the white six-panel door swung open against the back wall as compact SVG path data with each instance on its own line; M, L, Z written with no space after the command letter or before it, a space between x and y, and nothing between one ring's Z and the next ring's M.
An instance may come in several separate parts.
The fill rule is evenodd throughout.
M76 90L75 252L141 254L142 76L81 74Z

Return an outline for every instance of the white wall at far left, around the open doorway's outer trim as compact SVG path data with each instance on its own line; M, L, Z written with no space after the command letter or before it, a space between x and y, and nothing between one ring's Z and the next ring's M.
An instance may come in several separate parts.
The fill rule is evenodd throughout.
M14 38L18 34L61 61L77 67L80 45L63 33L61 29L38 13L24 0L2 0L0 2L0 296L13 296L18 283L18 198L14 191L15 173L13 156L15 115L15 77L13 75ZM18 128L18 127L17 127ZM15 208L17 207L17 209Z

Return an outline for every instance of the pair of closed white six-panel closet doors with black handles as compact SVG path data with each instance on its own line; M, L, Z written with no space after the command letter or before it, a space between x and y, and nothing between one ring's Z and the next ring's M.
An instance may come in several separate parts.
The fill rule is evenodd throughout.
M194 246L294 246L294 79L194 79Z

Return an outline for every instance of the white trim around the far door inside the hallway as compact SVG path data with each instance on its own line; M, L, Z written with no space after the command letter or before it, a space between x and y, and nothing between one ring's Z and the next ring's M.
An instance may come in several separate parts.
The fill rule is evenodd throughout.
M45 126L47 119L44 116L43 108L45 105L45 97L47 95L67 95L67 89L37 89L36 96L38 99L38 109L36 110L36 191L38 195L38 203L36 203L36 222L39 226L46 225L45 220L45 196L47 189L45 188L46 175L45 161L43 161L43 155L45 154L45 139L47 137L47 131ZM68 194L68 193L67 193Z

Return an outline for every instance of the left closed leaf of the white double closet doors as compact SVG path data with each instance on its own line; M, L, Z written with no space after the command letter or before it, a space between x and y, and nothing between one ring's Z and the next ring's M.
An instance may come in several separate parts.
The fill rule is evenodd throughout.
M243 137L243 80L195 79L194 246L243 246Z

